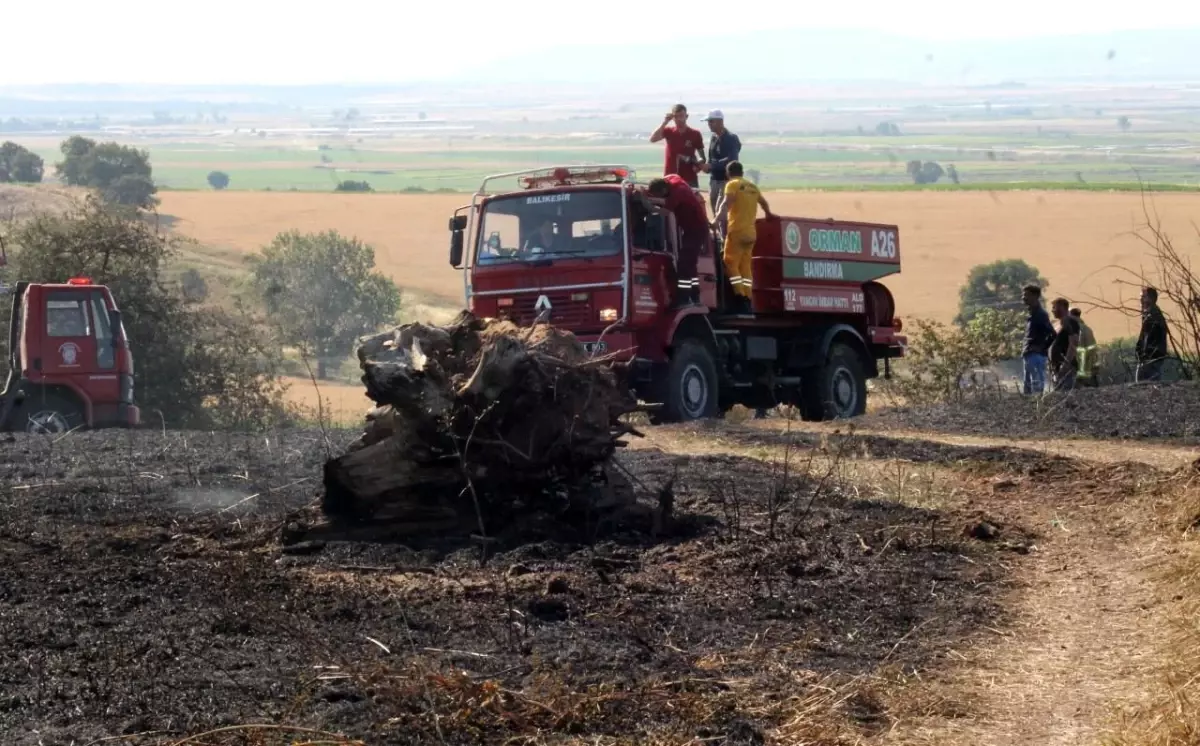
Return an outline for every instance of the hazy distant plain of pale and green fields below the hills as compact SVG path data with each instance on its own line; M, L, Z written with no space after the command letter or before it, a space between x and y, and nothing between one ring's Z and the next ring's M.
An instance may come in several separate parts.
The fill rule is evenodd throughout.
M148 150L163 189L209 188L212 170L227 173L232 189L331 191L355 180L378 192L474 191L487 174L556 164L623 163L642 178L661 173L664 145L648 142L661 121L658 102L577 96L485 115L452 96L428 100L420 106L436 119L427 122L385 102L361 104L353 122L342 109L322 106L250 107L234 120L176 110L174 119L148 122L145 112L140 119L131 112L101 121L107 132L84 134ZM691 124L704 131L702 121ZM914 188L911 161L954 166L959 185L943 176L936 188L1200 186L1200 97L1189 91L1031 85L827 101L797 94L743 100L730 125L742 138L743 163L768 189ZM50 166L70 130L44 126L50 131L0 132L0 139L34 149Z

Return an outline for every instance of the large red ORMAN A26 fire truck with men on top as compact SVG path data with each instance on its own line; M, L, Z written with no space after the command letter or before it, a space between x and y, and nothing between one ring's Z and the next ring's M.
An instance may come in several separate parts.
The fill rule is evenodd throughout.
M514 186L490 188L502 180ZM450 218L450 264L464 269L476 315L548 321L628 360L638 397L661 404L655 421L734 404L791 404L805 420L862 414L866 380L880 361L889 375L907 344L878 282L900 271L899 229L778 216L756 229L751 313L732 312L714 235L700 257L701 303L672 308L674 216L625 166L557 167L485 179Z

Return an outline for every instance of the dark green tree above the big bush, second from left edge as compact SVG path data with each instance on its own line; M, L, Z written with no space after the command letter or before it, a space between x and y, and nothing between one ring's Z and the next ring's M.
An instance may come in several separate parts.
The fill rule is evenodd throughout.
M92 187L104 200L149 209L157 204L150 154L116 143L72 136L59 146L59 178L72 186Z

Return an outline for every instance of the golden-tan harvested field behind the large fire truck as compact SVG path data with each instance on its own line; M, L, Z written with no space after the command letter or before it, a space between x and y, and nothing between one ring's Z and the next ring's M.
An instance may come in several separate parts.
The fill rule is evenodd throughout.
M1117 297L1116 275L1105 267L1138 269L1145 255L1130 235L1145 219L1138 193L772 192L767 198L781 215L899 225L902 272L884 282L904 318L949 321L971 267L1014 257L1042 271L1050 294L1087 308L1088 296ZM400 287L452 306L462 302L462 275L446 263L446 219L468 201L461 194L166 192L160 211L223 264L284 230L356 235L376 247L376 261ZM1200 261L1192 225L1200 194L1156 193L1147 204L1178 248ZM1117 313L1097 311L1087 320L1102 341L1136 333L1135 321Z

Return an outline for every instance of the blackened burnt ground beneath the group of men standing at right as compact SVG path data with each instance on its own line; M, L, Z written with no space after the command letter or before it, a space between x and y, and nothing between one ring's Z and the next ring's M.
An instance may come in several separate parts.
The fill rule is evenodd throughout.
M860 419L863 427L941 433L1169 440L1200 444L1195 381L1081 387L1046 396L983 391L930 407L896 407Z

